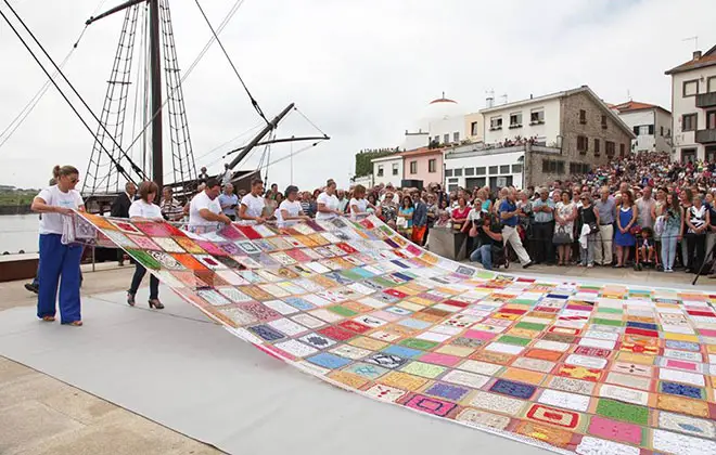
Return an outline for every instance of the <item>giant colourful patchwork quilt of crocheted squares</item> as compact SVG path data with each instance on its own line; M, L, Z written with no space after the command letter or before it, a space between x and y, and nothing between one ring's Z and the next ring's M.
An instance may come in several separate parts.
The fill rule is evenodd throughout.
M716 290L496 274L375 218L197 235L81 216L231 333L332 385L557 452L716 454Z

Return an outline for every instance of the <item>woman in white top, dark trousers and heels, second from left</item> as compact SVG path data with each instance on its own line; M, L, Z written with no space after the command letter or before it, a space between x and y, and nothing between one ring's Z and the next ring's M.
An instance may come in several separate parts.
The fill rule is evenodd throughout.
M131 221L156 221L164 222L164 217L162 217L162 209L159 206L154 204L156 195L159 193L159 187L154 182L142 182L139 185L139 199L131 203L129 206L129 219ZM146 273L144 265L140 264L139 261L132 260L135 262L135 276L131 278L131 285L127 291L127 303L130 307L135 306L135 296L137 295L137 289L142 283L142 278ZM157 310L163 310L164 306L159 301L159 280L150 275L150 308L155 308Z

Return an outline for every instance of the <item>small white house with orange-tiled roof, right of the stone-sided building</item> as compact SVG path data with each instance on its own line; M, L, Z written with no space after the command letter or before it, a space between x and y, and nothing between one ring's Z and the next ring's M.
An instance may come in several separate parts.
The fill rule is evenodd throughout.
M637 139L631 151L670 152L672 113L654 104L627 101L612 106L619 118L631 128Z

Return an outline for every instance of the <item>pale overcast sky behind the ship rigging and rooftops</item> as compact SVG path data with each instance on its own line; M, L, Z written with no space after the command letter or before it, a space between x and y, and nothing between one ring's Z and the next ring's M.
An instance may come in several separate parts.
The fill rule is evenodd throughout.
M218 25L234 0L201 2ZM98 3L12 1L57 61ZM107 9L120 1L103 3ZM210 31L193 0L170 4L186 69ZM8 11L2 2L0 9ZM399 145L404 131L443 91L465 112L485 107L490 89L500 102L503 93L516 101L581 84L608 102L626 101L630 93L634 100L670 108L670 79L664 70L691 57L694 42L685 38L699 36L703 51L716 44L714 17L713 0L245 0L221 39L267 116L295 102L332 136L294 159L294 183L312 187L327 178L347 184L356 152ZM65 67L95 113L122 21L118 14L90 26ZM44 75L4 23L0 55L2 131ZM260 120L216 44L183 89L197 166L218 172L222 153L241 141L207 153ZM128 125L132 118L129 114ZM292 114L278 134L312 133ZM55 164L73 164L84 172L92 143L51 89L0 148L0 184L39 186ZM271 160L290 151L276 147ZM257 159L258 154L245 167ZM287 159L269 170L269 180L281 187L290 176Z

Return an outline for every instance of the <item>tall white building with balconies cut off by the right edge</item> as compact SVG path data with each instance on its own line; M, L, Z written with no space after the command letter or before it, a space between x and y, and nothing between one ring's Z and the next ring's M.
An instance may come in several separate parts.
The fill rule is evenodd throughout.
M673 158L716 160L716 46L666 72L672 76Z

